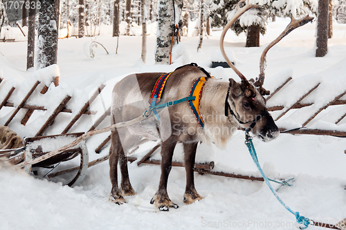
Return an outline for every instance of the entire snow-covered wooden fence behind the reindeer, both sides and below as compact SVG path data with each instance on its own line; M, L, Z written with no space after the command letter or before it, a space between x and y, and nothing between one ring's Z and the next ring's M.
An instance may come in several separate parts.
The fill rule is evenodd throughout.
M109 99L102 99L102 93L111 98L113 83L100 83L98 87L83 92L77 88L59 86L59 74L57 66L51 66L38 71L20 84L3 76L4 80L0 81L0 124L10 126L19 135L29 137L93 131L102 122L104 126L109 126L107 117L110 115L110 102ZM282 133L346 137L346 124L343 122L346 117L346 80L325 81L314 75L292 79L292 71L284 70L266 79L264 87L273 92L266 98L267 106ZM109 140L109 134L101 135L96 140L98 144L93 144L98 146L95 152L100 152ZM137 164L160 164L160 160L150 158L158 147L159 145L155 146ZM106 156L89 162L89 166L107 159ZM134 160L137 159L129 157L130 162ZM173 166L183 164L173 162ZM212 171L213 166L214 162L210 159L202 160L202 163L195 165L195 171L263 180L253 176ZM75 167L58 174L77 169Z

